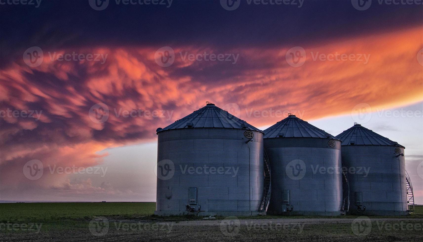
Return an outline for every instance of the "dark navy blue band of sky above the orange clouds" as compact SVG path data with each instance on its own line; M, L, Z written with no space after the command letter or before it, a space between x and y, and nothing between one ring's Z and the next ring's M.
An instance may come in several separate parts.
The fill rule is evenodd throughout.
M30 46L310 45L423 23L422 5L373 0L370 8L359 11L350 0L305 0L301 8L239 1L233 11L222 8L219 0L173 0L169 8L110 0L102 11L91 8L88 0L41 0L38 8L0 5L1 60L4 65Z

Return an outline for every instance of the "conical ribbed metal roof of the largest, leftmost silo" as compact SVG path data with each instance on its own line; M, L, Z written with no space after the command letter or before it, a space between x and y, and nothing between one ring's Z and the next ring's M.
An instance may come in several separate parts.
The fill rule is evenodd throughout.
M157 132L170 129L192 129L192 128L229 128L229 129L250 129L258 132L263 132L251 124L248 124L242 119L235 117L217 107L213 103L208 103L206 106L194 111L190 115L176 120L173 124L165 128L157 129Z

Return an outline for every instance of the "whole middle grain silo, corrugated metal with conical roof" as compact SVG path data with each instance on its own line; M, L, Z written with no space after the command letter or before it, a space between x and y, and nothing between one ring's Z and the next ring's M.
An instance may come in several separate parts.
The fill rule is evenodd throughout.
M264 130L272 172L268 213L340 215L341 142L295 115Z

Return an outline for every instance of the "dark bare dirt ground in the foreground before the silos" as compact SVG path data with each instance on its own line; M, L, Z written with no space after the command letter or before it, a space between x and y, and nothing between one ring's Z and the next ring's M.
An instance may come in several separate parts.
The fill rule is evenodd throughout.
M0 241L423 241L422 219L276 218L194 221L101 217L86 229L2 233Z

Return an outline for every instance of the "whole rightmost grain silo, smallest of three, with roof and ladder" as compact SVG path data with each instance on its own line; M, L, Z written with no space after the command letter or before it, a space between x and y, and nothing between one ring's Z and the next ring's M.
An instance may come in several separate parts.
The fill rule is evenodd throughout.
M350 212L407 214L414 199L404 146L357 123L336 137L342 140L342 163L348 172Z

